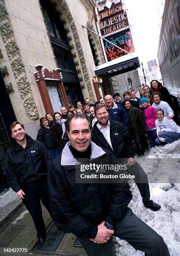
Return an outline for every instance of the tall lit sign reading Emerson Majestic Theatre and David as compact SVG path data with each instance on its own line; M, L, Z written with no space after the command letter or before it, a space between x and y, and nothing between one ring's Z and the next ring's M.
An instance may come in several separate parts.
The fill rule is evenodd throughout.
M128 22L127 10L124 10L123 0L117 0L112 4L97 5L97 29L103 38L109 40L116 46L119 46L128 53L135 52L133 38L131 34L131 26ZM103 6L104 5L104 6ZM110 44L110 42L102 40L101 44L105 54L106 62L119 58L127 54L125 51L118 49Z

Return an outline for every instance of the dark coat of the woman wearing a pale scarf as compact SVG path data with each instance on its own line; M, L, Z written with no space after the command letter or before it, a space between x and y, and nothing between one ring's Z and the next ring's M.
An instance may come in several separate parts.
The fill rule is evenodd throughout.
M62 148L64 148L65 146L65 141L62 139L62 125L56 123L56 121L54 121L53 125L52 125L52 139L55 142L55 145L62 150Z

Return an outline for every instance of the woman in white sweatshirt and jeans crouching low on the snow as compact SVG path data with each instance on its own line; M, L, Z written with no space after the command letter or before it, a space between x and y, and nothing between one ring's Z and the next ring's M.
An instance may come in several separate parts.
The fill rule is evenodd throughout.
M155 120L158 138L155 139L157 144L172 143L180 139L180 126L173 119L164 116L164 110L157 110L157 120Z

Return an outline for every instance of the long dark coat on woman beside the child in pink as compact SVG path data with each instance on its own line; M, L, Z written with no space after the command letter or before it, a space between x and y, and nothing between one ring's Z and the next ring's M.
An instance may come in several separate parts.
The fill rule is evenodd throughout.
M143 124L143 119L140 114L140 110L137 108L130 107L127 111L130 120L130 134L135 141L135 143L140 144L141 136L146 134L145 126Z

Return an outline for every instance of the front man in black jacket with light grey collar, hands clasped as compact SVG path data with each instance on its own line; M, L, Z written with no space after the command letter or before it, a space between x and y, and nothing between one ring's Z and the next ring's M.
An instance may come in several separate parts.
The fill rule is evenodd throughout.
M52 162L48 176L52 218L57 227L75 234L88 256L112 256L112 234L148 256L169 256L163 238L128 208L132 198L128 183L76 182L80 163L114 158L91 141L88 117L71 116L67 134L70 142Z

